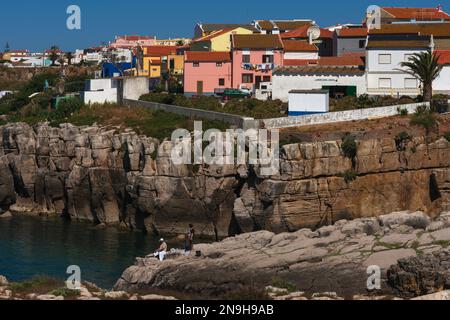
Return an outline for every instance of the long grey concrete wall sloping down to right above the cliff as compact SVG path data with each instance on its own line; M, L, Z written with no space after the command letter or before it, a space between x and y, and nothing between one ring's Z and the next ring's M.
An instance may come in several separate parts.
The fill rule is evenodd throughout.
M142 108L149 108L151 110L162 110L198 119L220 120L243 129L255 128L258 125L258 122L255 121L253 118L246 118L241 117L239 115L220 113L214 111L172 106L155 102L124 99L123 105L127 107L142 107Z

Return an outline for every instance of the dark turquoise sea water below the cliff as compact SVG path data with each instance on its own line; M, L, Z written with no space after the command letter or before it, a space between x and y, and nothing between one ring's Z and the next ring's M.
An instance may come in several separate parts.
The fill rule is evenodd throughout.
M111 289L136 257L157 245L157 238L143 233L59 218L0 218L0 275L10 281L36 275L66 279L67 267L78 265L83 281Z

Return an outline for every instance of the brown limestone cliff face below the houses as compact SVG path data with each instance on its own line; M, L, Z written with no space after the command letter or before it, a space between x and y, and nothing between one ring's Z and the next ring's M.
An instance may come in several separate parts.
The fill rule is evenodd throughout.
M449 202L450 143L415 138L284 146L281 171L175 166L171 143L100 127L0 127L0 206L29 214L203 235L295 231L400 210L434 215ZM400 150L399 150L400 149ZM342 173L353 170L354 181Z

